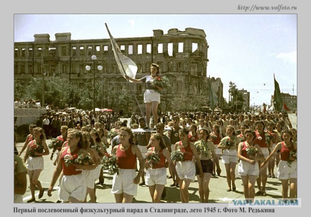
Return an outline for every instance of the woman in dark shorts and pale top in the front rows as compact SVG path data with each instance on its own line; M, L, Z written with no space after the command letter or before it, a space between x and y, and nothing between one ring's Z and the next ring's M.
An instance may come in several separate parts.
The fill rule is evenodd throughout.
M209 188L208 188L208 184L209 184L209 180L210 177L212 175L213 172L213 162L212 162L212 158L214 159L215 162L218 162L218 158L215 154L215 145L211 142L208 141L209 138L209 134L208 131L205 129L200 130L199 132L200 134L200 140L194 143L194 146L204 146L205 147L205 151L198 151L198 154L200 156L200 162L201 162L201 166L202 166L202 171L204 173L204 175L201 177L200 176L200 169L198 167L198 164L196 164L195 166L195 172L196 172L196 177L198 179L198 184L199 184L199 195L200 195L200 199L202 203L207 203L208 202L208 196L209 196ZM216 165L218 165L217 168L220 169L219 167L219 163L217 163Z

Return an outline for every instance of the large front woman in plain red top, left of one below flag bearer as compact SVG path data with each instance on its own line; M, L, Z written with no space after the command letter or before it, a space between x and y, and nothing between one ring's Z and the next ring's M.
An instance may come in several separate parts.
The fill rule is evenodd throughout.
M144 158L134 142L131 128L121 127L119 130L121 144L113 147L112 154L117 157L119 175L113 176L111 193L115 195L117 203L131 203L137 195L137 187L145 169ZM139 161L138 174L135 165Z

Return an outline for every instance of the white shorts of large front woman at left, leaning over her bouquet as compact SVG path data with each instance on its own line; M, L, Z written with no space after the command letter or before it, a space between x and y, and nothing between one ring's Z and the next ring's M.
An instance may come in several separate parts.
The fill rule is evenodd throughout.
M80 173L77 175L64 175L58 190L59 200L69 201L70 197L84 201L86 199L86 179Z

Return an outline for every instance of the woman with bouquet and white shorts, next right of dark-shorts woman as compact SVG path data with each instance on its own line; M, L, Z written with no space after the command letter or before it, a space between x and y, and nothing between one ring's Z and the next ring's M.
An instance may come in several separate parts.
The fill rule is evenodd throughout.
M225 164L226 178L228 183L228 188L226 191L235 191L237 189L235 185L235 167L238 163L237 147L240 143L240 140L238 137L236 137L235 129L231 125L226 127L226 134L227 136L222 138L217 148L223 149L222 162Z

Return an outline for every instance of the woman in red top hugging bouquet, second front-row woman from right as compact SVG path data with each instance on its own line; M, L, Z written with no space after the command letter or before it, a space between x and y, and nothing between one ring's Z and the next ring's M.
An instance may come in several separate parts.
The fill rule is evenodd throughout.
M256 134L254 131L245 130L245 139L238 146L239 175L243 183L245 200L254 201L255 183L259 176L259 165L257 160L264 159L259 145L255 144Z

